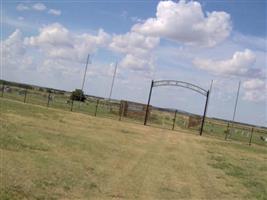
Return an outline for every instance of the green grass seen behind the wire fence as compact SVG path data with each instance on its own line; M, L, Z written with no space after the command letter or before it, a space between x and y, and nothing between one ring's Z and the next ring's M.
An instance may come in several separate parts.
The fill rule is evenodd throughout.
M18 87L10 87L12 90L9 92L4 93L4 97L12 100L17 101L24 101L24 89ZM52 100L49 101L49 107L52 108L59 108L62 110L69 111L71 109L71 103L69 101L69 93L63 94L54 94L51 93ZM48 93L43 91L37 90L27 90L27 98L26 103L32 103L42 106L47 106L48 104ZM100 100L97 108L97 116L107 117L112 119L118 119L119 117L119 110L120 110L120 103L113 103L112 109L110 106L107 105L107 100ZM96 111L97 100L90 99L86 100L85 102L74 102L73 104L73 111L89 114L94 116ZM122 117L123 121L134 122L143 124L145 116L128 116ZM167 111L159 111L152 109L151 114L148 118L148 124L153 127L165 128L165 129L172 129L173 127L173 118L174 112L167 112ZM182 114L177 114L176 121L175 121L175 130L186 130L187 121L184 119ZM193 131L197 133L200 129L200 125L196 127L191 127L189 131ZM225 131L227 129L227 123L218 120L206 119L206 123L204 125L204 134L209 136L214 136L218 138L225 138ZM188 130L188 129L187 129ZM231 135L229 139L235 141L242 141L243 143L249 143L251 135L251 127L248 126L237 126L235 125L234 128L231 130ZM267 146L267 143L262 141L260 138L261 136L267 137L266 129L254 129L253 137L252 137L252 144L260 144L263 146Z

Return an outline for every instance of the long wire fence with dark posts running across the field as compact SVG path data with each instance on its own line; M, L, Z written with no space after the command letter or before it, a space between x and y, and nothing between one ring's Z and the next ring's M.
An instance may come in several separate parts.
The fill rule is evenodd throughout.
M40 87L18 87L2 85L0 96L24 103L37 104L92 116L143 124L146 105L129 101L107 100L87 96L84 102L71 101L70 92ZM197 133L201 118L177 110L149 107L148 125L170 130L189 129ZM236 140L244 143L267 146L267 129L249 125L229 123L222 120L206 119L204 135Z

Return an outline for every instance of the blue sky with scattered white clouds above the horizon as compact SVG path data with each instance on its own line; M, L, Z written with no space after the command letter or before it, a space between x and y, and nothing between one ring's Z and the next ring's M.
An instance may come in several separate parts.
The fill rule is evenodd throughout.
M1 1L1 79L146 103L151 80L209 90L209 117L267 126L265 0ZM152 105L203 114L205 97L153 89Z

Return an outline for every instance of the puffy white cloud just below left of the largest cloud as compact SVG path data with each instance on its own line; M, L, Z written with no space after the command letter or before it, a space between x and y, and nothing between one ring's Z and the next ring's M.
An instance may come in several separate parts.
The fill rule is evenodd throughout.
M150 71L154 68L152 50L159 38L148 37L136 32L115 35L110 44L111 50L123 53L120 66L134 71Z

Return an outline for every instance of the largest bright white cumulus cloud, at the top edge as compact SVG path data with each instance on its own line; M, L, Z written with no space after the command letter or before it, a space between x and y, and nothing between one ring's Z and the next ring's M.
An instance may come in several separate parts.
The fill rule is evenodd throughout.
M226 12L204 13L195 1L161 1L156 18L132 27L133 31L167 38L189 45L214 46L231 32L230 15Z

